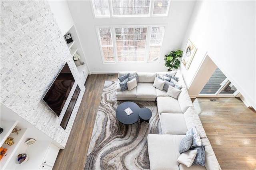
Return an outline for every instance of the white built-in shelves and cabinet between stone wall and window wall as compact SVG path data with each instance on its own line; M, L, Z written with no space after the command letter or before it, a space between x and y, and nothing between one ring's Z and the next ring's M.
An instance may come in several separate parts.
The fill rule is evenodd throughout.
M83 84L84 84L90 71L88 69L88 66L87 66L87 63L86 63L86 58L85 58L85 55L84 55L84 51L82 50L80 40L79 40L79 37L77 35L75 26L72 26L70 28L70 30L68 32L66 32L66 34L68 34L68 33L71 34L72 40L73 40L73 42L67 43L67 46L68 46L68 49L70 51L72 59L73 59L73 56L74 56L75 53L77 53L81 57L79 59L81 65L77 66L76 68L77 68L78 72L80 73L80 77L81 77L81 79L83 81Z

